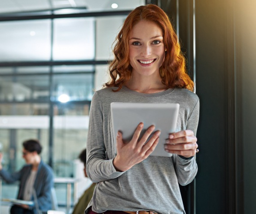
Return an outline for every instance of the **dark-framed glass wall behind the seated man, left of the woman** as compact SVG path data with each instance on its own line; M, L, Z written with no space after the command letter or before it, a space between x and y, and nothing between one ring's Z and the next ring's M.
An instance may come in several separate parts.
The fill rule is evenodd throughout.
M145 0L117 3L120 10L131 10ZM128 14L115 13L111 4L102 0L84 6L87 9L0 14L0 32L4 32L0 34L0 152L4 169L19 170L25 163L22 142L39 139L42 159L53 167L55 178L78 179L72 202L90 184L77 158L86 148L93 93L108 80L112 44ZM104 10L113 14L102 16ZM90 11L96 16L87 16ZM65 17L65 13L69 15ZM59 14L64 16L57 17ZM35 19L35 15L42 17ZM12 19L6 21L4 16ZM65 185L56 181L55 188L59 204L66 206ZM15 198L17 190L18 184L4 184L2 197Z

